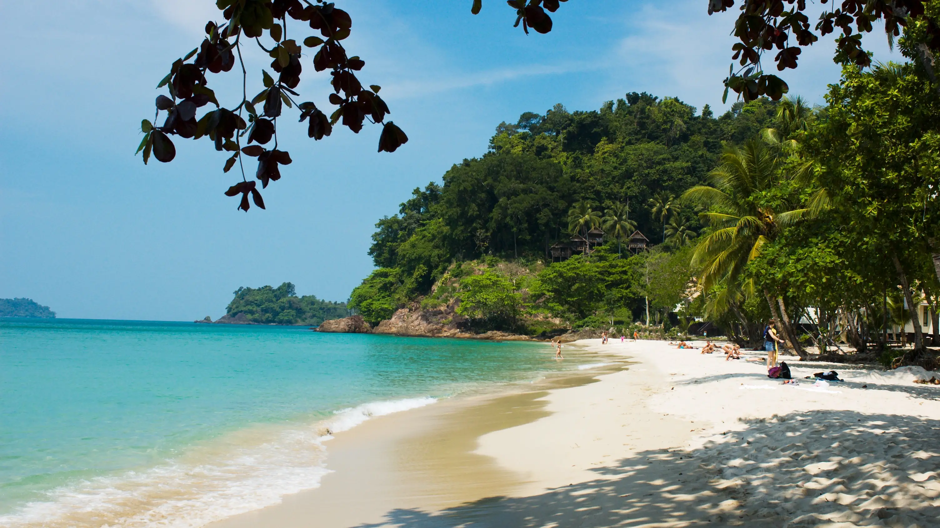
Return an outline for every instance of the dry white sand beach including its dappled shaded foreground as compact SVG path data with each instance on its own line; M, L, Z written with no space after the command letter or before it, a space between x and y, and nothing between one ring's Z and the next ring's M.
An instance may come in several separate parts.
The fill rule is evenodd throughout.
M724 354L661 341L586 340L572 348L601 352L610 358L605 363L619 365L598 365L607 372L598 382L539 393L538 419L488 427L469 443L481 464L498 468L488 473L494 480L511 480L505 487L481 486L476 495L458 493L443 503L410 497L393 506L360 498L360 511L351 515L353 501L338 512L317 502L331 486L327 477L322 489L217 525L925 528L940 522L940 387L913 383L916 373L800 364L783 356L801 380L789 386L766 377L760 352L725 361ZM803 380L829 369L846 381L813 387ZM396 421L405 414L375 419L374 427L383 420L384 427L402 424ZM359 440L367 433L360 430ZM435 438L422 442L432 445ZM451 471L437 469L445 476Z

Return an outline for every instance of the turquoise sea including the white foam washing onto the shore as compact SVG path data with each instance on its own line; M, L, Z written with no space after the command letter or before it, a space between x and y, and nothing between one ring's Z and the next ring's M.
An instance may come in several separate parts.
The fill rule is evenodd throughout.
M578 368L552 355L305 327L0 319L0 526L195 527L271 505L318 485L330 433Z

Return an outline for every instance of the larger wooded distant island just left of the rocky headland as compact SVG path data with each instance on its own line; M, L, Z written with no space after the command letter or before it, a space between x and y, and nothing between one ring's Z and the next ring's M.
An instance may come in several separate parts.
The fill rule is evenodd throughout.
M214 322L229 324L284 324L319 326L326 319L349 315L346 303L317 299L315 295L297 297L294 285L279 287L240 287L228 303L226 315ZM213 322L208 316L196 322Z

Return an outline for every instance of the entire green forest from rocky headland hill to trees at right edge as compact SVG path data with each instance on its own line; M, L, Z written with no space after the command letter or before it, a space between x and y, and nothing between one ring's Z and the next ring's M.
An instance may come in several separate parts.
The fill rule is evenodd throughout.
M379 220L377 270L350 307L375 324L460 300L465 325L528 334L698 319L750 345L776 318L804 357L920 361L940 344L933 92L915 63L850 65L825 106L759 98L714 116L629 93L526 113ZM592 228L603 242L553 262ZM648 250L627 248L635 229ZM892 348L899 333L913 351Z

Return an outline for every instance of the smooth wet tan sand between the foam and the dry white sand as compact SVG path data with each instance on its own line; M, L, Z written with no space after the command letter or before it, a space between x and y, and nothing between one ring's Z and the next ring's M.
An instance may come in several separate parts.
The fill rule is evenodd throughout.
M280 505L210 524L211 528L339 528L384 525L389 512L436 511L507 496L531 478L476 452L479 438L547 417L545 396L597 381L622 364L572 372L484 396L456 397L380 416L326 443L321 486ZM485 508L484 508L485 509Z

